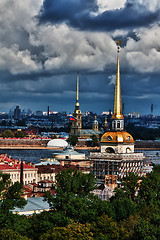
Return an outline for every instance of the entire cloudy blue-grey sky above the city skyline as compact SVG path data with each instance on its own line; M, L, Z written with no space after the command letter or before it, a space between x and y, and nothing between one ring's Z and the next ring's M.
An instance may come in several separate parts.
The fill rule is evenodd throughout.
M113 109L116 43L125 113L160 115L159 0L0 0L0 112Z

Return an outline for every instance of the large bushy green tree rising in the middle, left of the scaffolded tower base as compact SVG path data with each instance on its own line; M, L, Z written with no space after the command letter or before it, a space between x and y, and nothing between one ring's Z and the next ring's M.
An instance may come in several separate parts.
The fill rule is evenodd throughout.
M87 196L95 188L95 179L92 173L83 174L80 171L68 169L56 175L56 198L46 193L46 199L51 207L62 209L68 206L72 197Z

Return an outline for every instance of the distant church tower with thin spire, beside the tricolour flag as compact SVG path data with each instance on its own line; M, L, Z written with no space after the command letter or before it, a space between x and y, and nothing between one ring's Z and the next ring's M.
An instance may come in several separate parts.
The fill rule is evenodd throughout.
M72 122L70 135L79 135L82 129L82 113L79 109L79 73L77 73L77 96L76 104L73 112L73 116L76 118L76 121Z

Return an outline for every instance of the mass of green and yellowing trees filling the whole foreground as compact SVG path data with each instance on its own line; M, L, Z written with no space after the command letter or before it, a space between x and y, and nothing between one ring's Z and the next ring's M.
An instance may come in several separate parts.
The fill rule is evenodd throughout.
M51 210L31 217L12 214L19 204L20 185L9 187L1 175L0 239L33 240L156 240L160 236L160 166L139 179L130 173L115 196L102 201L92 194L92 173L64 170L56 176L56 197L45 200ZM6 189L7 187L7 189Z

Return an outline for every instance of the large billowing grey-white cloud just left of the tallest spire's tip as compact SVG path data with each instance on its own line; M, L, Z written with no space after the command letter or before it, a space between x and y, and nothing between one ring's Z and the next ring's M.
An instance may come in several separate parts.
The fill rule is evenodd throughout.
M115 43L106 33L76 31L65 24L41 26L30 42L44 46L47 70L103 71L115 62Z

